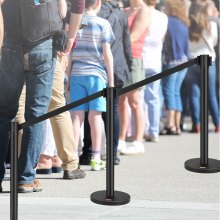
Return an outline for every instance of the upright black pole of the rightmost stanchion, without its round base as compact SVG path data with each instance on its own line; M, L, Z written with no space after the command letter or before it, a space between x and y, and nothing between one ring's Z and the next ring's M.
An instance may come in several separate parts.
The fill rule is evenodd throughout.
M199 59L200 76L201 76L201 134L200 134L200 163L201 166L208 164L208 81L209 81L209 64L208 55L201 55Z

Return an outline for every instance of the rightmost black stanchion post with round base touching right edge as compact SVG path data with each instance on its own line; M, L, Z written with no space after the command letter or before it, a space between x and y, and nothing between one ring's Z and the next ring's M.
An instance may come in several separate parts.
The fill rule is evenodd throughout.
M185 162L185 168L197 173L220 172L220 161L208 158L208 70L211 65L211 57L201 55L198 58L201 74L201 133L200 133L200 158L194 158Z

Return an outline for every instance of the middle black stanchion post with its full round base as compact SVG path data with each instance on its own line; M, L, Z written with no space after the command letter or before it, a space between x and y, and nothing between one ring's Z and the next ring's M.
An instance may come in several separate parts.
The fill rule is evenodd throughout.
M114 190L114 101L116 89L106 89L106 121L107 121L107 150L106 150L106 190L91 194L91 201L100 205L124 205L130 202L130 195Z

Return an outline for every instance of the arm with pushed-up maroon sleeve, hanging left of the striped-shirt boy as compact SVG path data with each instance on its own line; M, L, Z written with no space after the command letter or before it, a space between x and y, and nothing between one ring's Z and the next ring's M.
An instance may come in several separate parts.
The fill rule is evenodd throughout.
M65 54L69 53L76 38L77 31L80 27L82 14L85 8L85 0L72 0L70 25L68 31L68 44L64 51Z

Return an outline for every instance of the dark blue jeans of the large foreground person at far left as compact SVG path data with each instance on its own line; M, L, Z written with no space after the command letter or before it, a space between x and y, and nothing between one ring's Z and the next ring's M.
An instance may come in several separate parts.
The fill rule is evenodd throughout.
M27 65L28 64L28 65ZM18 110L21 90L26 82L25 120L47 113L54 71L52 40L41 42L28 52L24 68L22 45L6 39L2 48L0 70L0 181L5 174L5 157L10 135L10 122ZM25 70L24 70L25 69ZM18 160L18 182L32 183L44 139L44 122L24 128Z

